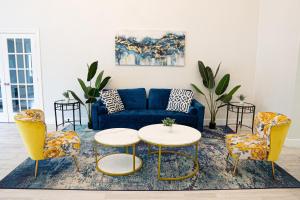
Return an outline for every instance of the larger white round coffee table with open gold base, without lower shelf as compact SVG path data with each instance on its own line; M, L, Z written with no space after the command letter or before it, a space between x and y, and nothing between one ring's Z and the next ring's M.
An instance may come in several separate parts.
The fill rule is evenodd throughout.
M198 143L201 139L201 133L197 129L174 124L172 128L166 127L163 124L153 124L149 126L145 126L139 130L139 137L144 142L148 143L148 155L158 153L158 179L159 180L183 180L186 178L190 178L197 174L199 171L199 163L198 163ZM158 151L151 152L151 145L157 146ZM195 156L192 157L182 152L176 151L163 151L163 147L183 147L183 146L191 146L195 145ZM161 154L164 153L173 153L178 154L187 158L190 158L194 162L194 169L191 173L185 176L178 177L161 177Z

